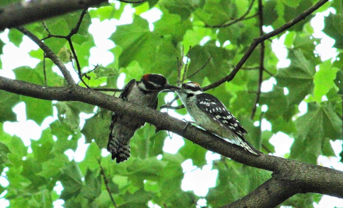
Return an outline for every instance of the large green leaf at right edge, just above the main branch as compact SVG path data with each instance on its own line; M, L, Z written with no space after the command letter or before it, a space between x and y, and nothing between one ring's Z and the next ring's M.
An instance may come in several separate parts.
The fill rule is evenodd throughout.
M328 139L342 137L342 120L328 102L308 103L307 113L296 120L296 127L298 134L290 157L300 161L317 163L319 155L331 156L333 151Z

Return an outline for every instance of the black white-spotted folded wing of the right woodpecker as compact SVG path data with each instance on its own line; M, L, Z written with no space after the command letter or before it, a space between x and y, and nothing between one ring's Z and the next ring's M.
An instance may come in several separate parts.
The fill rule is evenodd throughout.
M238 136L248 133L224 104L213 95L207 93L197 95L197 105L225 129L232 130Z

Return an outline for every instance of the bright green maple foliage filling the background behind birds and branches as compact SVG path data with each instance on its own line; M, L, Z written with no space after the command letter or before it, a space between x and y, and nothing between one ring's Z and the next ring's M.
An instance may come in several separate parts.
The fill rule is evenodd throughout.
M2 1L0 5L10 2ZM282 26L316 2L262 1L265 31ZM108 37L115 44L108 50L114 61L108 65L100 64L93 70L96 63L88 60L91 48L96 46L94 37L88 32L92 19L119 20L125 8L130 7L128 5L112 2L97 9L88 9L78 33L71 37L82 72L89 72L88 78L83 76L89 87L118 88L118 77L122 73L126 75L125 83L132 78L140 79L147 73L158 73L171 84L176 84L177 58L184 59L190 47L188 75L199 70L212 57L199 73L191 77L191 81L206 86L228 75L253 38L259 36L258 1L147 0L131 4L135 9L132 23L109 28L115 30ZM140 16L152 8L162 12L161 19L153 23L153 30L143 15ZM315 14L264 42L266 71L263 71L262 81L272 82L273 88L262 90L252 119L258 91L259 47L231 82L207 91L226 105L249 132L249 142L266 154L276 154L269 140L282 132L294 138L290 152L283 157L313 164L318 163L318 157L338 157L330 141L342 139L342 1L327 2L316 12L329 8L334 13L328 12L324 17L322 32L335 40L333 58L324 60L318 53L316 47L321 39L313 36L314 28L311 26ZM25 27L41 39L49 33L66 36L76 26L80 14L81 11L70 13L44 20L44 25L35 22ZM242 20L223 26L242 16ZM8 38L17 47L23 41L23 35L16 29L9 30ZM66 39L52 37L44 42L63 62L72 60L76 67ZM277 68L279 48L273 49L274 52L273 44L279 44L279 48L287 52L290 60L287 67ZM5 43L0 40L0 45L3 53ZM46 59L43 63L41 49L31 50L29 55L39 59L39 63L34 69L29 66L14 69L16 79L45 85L45 64L47 85L65 84L63 77L52 70L54 64L51 60ZM80 85L85 86L81 82ZM111 91L104 93L114 94ZM119 96L119 93L115 95ZM165 103L165 95L159 95L159 106ZM57 199L64 200L63 207L114 207L104 175L118 207L153 207L154 204L165 208L200 207L200 203L197 205L199 199L205 199L206 207L220 207L245 196L271 177L268 171L247 167L227 158L206 160L208 151L188 140L176 154L164 152L164 141L169 139L167 132L155 134L155 127L149 124L131 139L130 159L116 164L110 155L102 156L111 112L80 102L52 102L5 91L0 91L0 98L0 166L2 176L9 182L7 186L0 186L0 194L6 193L1 197L9 200L10 207L53 207L52 203ZM53 116L54 109L58 115L58 119L43 130L40 138L31 138L28 145L24 145L17 135L12 136L3 130L4 122L17 121L12 108L21 102L25 103L27 120L38 125ZM305 114L300 113L300 103L307 106ZM262 111L263 105L268 107L267 110L264 107ZM80 125L82 112L92 114L84 125ZM176 112L181 115L187 113L185 109ZM263 119L270 122L270 129L261 129ZM80 162L70 160L64 152L69 149L76 151L78 140L83 135L85 142L90 143L85 158ZM181 163L188 159L199 168L212 163L212 169L218 170L215 187L210 188L205 196L181 189L185 175ZM63 186L61 193L54 189L57 184ZM318 194L298 194L283 205L313 207L313 203L320 199Z

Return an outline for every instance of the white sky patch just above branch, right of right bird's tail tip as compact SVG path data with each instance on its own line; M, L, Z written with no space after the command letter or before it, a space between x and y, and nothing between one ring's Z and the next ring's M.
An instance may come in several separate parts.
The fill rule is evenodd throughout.
M275 147L275 156L284 157L290 152L294 139L283 132L277 132L269 139L270 144Z

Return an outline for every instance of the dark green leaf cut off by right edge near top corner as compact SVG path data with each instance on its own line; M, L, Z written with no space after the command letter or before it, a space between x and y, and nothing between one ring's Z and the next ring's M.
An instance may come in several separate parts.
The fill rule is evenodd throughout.
M332 14L324 18L323 32L335 39L333 47L343 49L343 14Z

